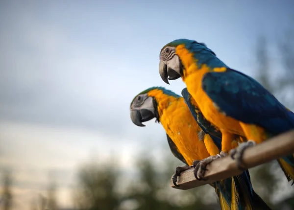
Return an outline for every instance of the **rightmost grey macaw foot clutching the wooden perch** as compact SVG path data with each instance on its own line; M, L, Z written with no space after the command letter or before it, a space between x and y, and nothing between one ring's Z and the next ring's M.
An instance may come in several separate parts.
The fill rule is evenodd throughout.
M243 163L243 153L248 147L255 146L256 142L254 140L247 140L246 142L241 143L235 149L231 149L230 156L233 160L236 160L237 167L240 170L246 170L246 168L242 167L241 164Z

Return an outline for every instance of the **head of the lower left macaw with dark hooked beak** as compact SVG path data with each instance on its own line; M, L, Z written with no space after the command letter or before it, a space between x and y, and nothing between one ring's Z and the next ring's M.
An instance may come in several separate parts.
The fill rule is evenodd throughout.
M139 93L134 97L130 106L133 123L143 127L145 125L142 122L149 121L154 117L159 122L158 104L160 103L161 107L164 107L164 104L168 106L169 98L178 97L180 96L163 87L152 87Z

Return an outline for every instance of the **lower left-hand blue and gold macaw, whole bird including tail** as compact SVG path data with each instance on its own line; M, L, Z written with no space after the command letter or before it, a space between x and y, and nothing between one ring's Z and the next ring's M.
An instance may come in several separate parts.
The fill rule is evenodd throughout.
M186 102L189 103L189 100ZM164 127L168 143L173 155L186 166L177 167L173 176L176 186L176 178L180 173L192 166L194 161L216 156L221 150L220 132L211 131L212 135L205 134L198 126L191 114L185 99L172 91L162 87L149 88L134 97L130 106L131 119L138 126L145 126L142 122L156 118ZM201 119L201 117L198 117ZM207 128L209 122L201 126ZM199 162L199 163L200 163ZM211 184L215 188L220 200L222 210L270 210L267 204L254 192L249 172L246 170L239 176L228 178Z

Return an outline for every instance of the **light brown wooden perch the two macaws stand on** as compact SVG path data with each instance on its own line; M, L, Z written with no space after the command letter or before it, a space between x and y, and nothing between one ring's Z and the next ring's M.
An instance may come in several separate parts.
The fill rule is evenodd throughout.
M292 153L294 153L294 130L246 149L243 155L244 164L242 166L244 168L252 168ZM193 168L191 168L182 172L178 177L177 185L179 187L175 187L172 181L171 186L176 189L191 189L242 173L230 156L217 159L208 164L206 168L207 171L204 178L207 178L207 180L196 180Z

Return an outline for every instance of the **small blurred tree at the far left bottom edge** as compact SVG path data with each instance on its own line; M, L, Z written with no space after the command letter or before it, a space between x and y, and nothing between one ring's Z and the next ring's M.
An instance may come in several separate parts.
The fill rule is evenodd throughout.
M0 198L1 210L12 210L13 196L12 196L12 176L11 171L6 169L2 173L2 193Z

